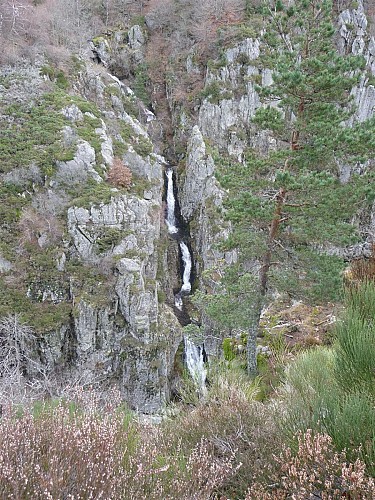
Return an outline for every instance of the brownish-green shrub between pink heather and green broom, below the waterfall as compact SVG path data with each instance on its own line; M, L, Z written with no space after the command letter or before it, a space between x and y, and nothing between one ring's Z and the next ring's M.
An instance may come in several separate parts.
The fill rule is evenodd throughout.
M217 490L218 498L243 498L249 482L270 476L273 453L281 450L281 434L272 406L255 401L258 387L243 370L211 364L208 379L206 398L195 399L193 409L184 406L165 421L161 439L172 455L177 450L191 453L201 439L210 443L216 459L233 455L234 473Z

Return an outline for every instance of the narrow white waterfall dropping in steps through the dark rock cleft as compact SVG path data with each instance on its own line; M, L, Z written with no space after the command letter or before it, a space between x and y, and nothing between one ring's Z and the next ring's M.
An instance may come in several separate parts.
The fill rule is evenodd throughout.
M183 297L190 295L192 288L192 270L193 270L193 255L188 242L188 236L184 231L182 216L179 212L177 187L175 184L175 174L172 167L166 169L166 217L165 223L168 227L168 233L177 241L181 256L181 279L182 286L174 296L175 307L179 311L183 311ZM189 320L190 322L190 320ZM184 358L186 367L197 385L201 395L207 391L206 378L207 355L204 344L197 345L194 340L187 335L184 336Z

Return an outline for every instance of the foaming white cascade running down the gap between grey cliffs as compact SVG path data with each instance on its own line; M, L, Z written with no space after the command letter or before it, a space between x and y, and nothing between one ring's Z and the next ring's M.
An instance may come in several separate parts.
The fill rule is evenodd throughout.
M179 227L177 226L178 220L176 218L176 200L173 185L173 169L168 168L167 170L167 216L165 222L168 227L168 232L170 235L175 235L174 239L179 242L181 257L183 263L183 273L182 273L182 286L180 291L174 297L174 303L179 311L183 310L182 297L184 295L189 295L191 293L191 271L192 271L192 255L187 244L182 241L181 236L177 236L179 233ZM205 367L206 355L204 351L204 345L196 345L192 340L190 340L186 335L184 336L184 350L185 350L185 361L187 369L194 380L197 389L201 396L207 393L206 378L207 370Z

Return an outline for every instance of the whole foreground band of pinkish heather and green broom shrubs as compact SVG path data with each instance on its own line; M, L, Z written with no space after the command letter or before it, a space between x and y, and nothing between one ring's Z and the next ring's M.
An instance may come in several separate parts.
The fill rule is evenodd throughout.
M3 405L1 498L372 499L374 288L348 290L332 344L294 352L268 398L237 358L204 396L185 374L157 423L93 387Z

